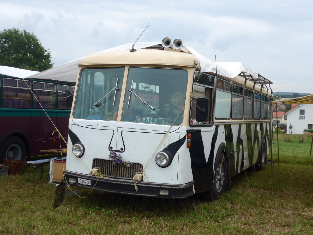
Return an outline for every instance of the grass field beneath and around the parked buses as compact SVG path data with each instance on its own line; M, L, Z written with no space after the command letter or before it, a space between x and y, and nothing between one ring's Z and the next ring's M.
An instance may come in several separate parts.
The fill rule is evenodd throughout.
M273 174L271 165L250 168L214 202L98 191L87 196L89 190L72 188L87 197L67 195L54 209L55 186L39 180L39 172L33 180L28 167L0 177L0 234L313 234L311 138L279 138L280 164L274 139Z

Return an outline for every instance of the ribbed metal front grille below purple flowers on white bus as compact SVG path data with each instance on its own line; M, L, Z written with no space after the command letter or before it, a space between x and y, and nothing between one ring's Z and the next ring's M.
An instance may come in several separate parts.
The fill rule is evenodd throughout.
M124 178L124 179L132 179L136 175L136 173L140 173L143 169L140 163L134 163L133 166L120 166L118 164L113 165L112 160L105 159L94 159L92 163L92 168L99 168L99 173L116 177L116 178Z

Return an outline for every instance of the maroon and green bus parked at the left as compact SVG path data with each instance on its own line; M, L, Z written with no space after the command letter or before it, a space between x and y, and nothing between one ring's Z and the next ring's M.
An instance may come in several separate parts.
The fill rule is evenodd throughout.
M67 139L70 107L64 97L75 86L74 82L22 79L23 71L12 69L20 73L0 72L0 163L4 158L26 159L43 154L40 150L60 148L59 133L52 135L54 124ZM63 140L61 146L66 147Z

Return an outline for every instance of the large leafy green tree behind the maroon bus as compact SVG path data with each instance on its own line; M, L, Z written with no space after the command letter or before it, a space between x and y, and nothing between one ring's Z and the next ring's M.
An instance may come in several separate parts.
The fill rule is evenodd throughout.
M48 50L34 33L25 29L0 31L0 65L34 71L47 70L53 66Z

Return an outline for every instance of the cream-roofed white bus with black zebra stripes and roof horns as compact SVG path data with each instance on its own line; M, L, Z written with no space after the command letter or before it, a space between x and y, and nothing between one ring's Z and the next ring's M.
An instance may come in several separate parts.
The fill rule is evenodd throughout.
M264 168L272 82L169 40L80 60L63 184L212 201Z

